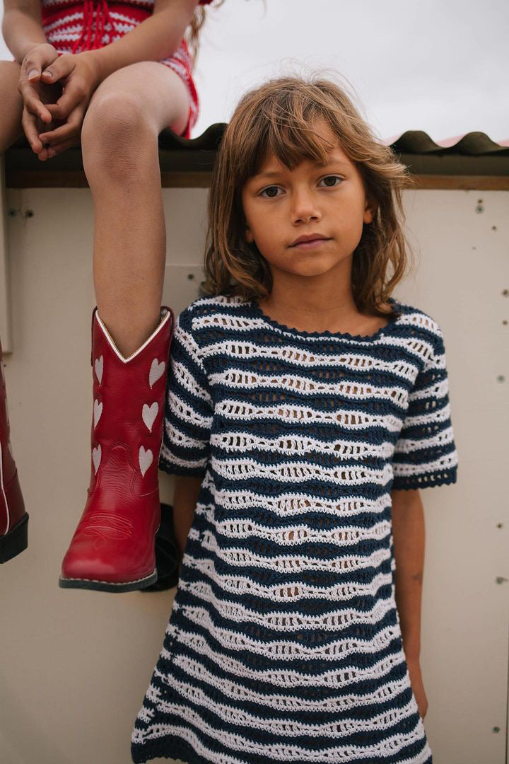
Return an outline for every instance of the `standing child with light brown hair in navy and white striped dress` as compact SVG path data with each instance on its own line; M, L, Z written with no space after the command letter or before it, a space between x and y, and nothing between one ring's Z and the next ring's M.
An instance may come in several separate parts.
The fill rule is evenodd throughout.
M237 105L170 353L182 560L134 762L432 761L419 490L458 460L440 325L391 295L411 186L329 79Z

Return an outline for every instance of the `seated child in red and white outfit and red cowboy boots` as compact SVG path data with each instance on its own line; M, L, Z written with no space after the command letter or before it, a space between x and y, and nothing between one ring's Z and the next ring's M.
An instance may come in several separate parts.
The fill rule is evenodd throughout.
M64 587L130 591L156 580L157 461L173 328L171 310L161 307L158 136L170 128L189 138L198 118L192 67L205 20L198 5L210 2L5 0L2 31L15 59L0 62L0 151L23 132L42 161L81 143L95 209L91 478L63 561ZM5 398L3 380L1 388ZM27 545L4 410L0 562Z

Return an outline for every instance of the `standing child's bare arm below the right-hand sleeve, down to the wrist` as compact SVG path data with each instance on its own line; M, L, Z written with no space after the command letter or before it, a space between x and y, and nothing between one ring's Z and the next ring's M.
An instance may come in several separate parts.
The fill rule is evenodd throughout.
M420 604L424 575L424 510L419 490L392 490L395 597L401 624L404 654L418 661L420 654Z

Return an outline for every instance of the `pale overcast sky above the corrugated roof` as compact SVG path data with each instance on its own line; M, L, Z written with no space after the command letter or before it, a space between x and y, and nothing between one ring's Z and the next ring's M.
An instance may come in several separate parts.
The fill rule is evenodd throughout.
M473 130L509 138L507 0L226 0L208 8L192 137L227 122L269 76L326 68L350 82L381 138ZM3 43L2 58L11 58Z

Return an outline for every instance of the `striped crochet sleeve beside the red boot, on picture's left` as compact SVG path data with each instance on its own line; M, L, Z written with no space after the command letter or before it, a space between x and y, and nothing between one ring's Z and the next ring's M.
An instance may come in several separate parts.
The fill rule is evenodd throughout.
M171 474L203 475L210 453L213 404L189 308L176 320L166 390L159 467Z

